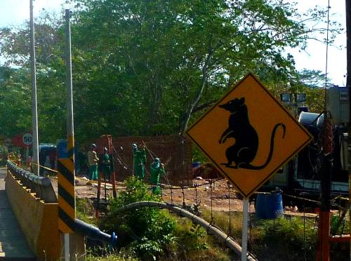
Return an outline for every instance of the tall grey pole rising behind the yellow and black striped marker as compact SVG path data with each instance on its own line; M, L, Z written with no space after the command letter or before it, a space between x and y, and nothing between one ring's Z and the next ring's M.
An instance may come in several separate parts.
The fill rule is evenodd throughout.
M67 156L73 161L73 178L74 171L74 124L73 124L73 91L72 91L72 55L71 55L71 25L70 11L66 9L66 32L67 32ZM75 206L75 203L74 203ZM75 210L74 210L75 211ZM69 234L65 233L65 260L69 261Z

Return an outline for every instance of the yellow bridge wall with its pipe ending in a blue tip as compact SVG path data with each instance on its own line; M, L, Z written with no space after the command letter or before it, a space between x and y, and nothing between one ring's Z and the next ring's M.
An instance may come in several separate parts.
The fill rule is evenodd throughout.
M12 161L7 161L7 168L6 193L29 247L38 260L59 260L61 241L58 231L58 199L51 180L23 170ZM98 227L77 219L74 220L74 233L70 236L70 241L74 242L70 247L72 256L84 256L84 236L105 241L110 244L110 248L117 241L116 234L106 234Z

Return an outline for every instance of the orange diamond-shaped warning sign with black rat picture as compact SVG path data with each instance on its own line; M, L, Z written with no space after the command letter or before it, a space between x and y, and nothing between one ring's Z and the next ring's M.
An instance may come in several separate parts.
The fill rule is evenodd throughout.
M186 133L243 196L253 194L312 140L252 74Z

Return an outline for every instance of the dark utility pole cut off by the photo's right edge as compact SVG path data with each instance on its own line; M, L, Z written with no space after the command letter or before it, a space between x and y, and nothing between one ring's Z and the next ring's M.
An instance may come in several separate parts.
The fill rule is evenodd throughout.
M351 0L345 0L345 9L346 9L346 65L347 65L347 74L346 74L346 88L349 91L349 100L351 100ZM351 108L350 108L351 112ZM351 122L351 119L350 119ZM347 143L350 145L351 142L351 127L350 123L347 126ZM349 175L349 216L350 216L350 229L351 231L351 157L350 152L348 153L348 175ZM350 260L351 260L351 237L350 237Z

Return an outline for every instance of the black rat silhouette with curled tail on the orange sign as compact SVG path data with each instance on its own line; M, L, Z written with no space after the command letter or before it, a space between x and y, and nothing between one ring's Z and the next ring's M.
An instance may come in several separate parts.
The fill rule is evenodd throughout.
M245 98L235 98L223 105L218 105L218 107L230 112L228 128L223 132L222 136L220 136L219 143L223 144L227 138L235 139L234 145L227 147L225 151L228 162L222 163L222 165L225 165L227 168L248 168L251 170L265 168L272 159L274 136L277 128L279 126L283 128L284 138L286 131L285 125L283 123L277 123L274 126L270 138L270 153L268 154L267 160L261 166L253 166L251 162L256 157L259 140L255 128L250 124ZM233 162L235 163L234 166L232 166Z

